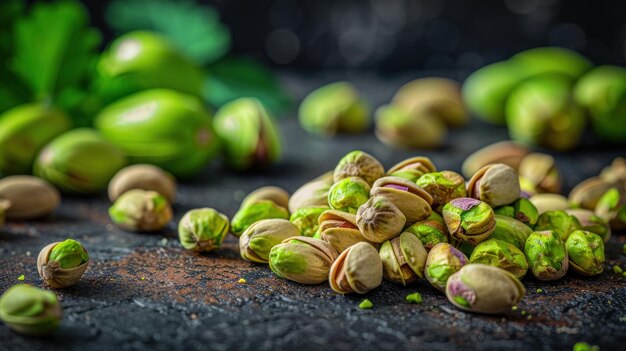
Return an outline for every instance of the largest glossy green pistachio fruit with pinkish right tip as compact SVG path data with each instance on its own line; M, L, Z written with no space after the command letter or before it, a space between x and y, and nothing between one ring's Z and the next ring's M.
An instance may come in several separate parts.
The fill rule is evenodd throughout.
M102 109L94 124L133 163L159 166L176 177L201 171L219 149L202 101L174 90L126 96Z

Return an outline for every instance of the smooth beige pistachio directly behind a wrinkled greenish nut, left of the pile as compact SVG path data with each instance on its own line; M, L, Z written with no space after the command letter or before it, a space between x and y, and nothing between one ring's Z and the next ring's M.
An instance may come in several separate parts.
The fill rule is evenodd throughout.
M132 189L156 191L170 203L176 201L176 178L157 166L138 164L122 168L109 182L109 200L114 202Z

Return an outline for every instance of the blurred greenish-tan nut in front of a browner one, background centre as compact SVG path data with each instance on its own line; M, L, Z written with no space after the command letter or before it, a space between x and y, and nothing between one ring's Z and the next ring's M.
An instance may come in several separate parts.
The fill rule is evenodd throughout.
M432 149L443 145L447 130L428 111L408 112L393 105L376 110L376 137L399 148Z

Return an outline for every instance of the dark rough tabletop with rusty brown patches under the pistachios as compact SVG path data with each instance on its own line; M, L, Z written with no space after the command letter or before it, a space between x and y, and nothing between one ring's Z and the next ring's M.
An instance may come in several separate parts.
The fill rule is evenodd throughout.
M353 79L374 106L384 103L403 77L360 76ZM290 75L296 96L325 77ZM293 116L290 116L293 117ZM506 138L504 129L478 122L454 131L448 147L410 152L388 148L372 133L320 139L301 131L295 119L281 121L285 157L259 174L233 174L219 167L180 185L176 220L185 211L214 207L229 216L245 193L262 185L289 191L334 167L353 149L368 151L386 167L424 154L439 169L459 171L474 149ZM596 174L624 148L590 146L557 155L571 188ZM196 255L181 249L176 224L160 234L132 234L113 227L104 195L64 197L45 220L10 223L0 228L0 291L18 283L41 286L35 261L46 244L74 237L92 261L79 283L56 291L65 317L50 338L34 339L0 327L2 350L568 350L577 341L617 350L626 344L626 279L612 273L626 265L621 247L626 236L614 235L607 246L605 272L595 278L568 274L552 283L531 277L517 311L503 316L463 313L426 281L409 287L388 282L366 295L372 310L360 310L361 296L340 296L327 285L302 286L275 277L264 266L239 258L235 237L215 253ZM245 278L247 283L238 280ZM543 291L536 292L538 288ZM410 305L412 292L424 297Z

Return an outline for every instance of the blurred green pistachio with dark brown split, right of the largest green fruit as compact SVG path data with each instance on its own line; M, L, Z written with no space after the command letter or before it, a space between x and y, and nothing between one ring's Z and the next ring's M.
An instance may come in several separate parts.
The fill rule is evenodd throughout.
M215 132L224 146L226 163L236 170L275 164L282 143L274 119L255 98L240 98L215 114Z

